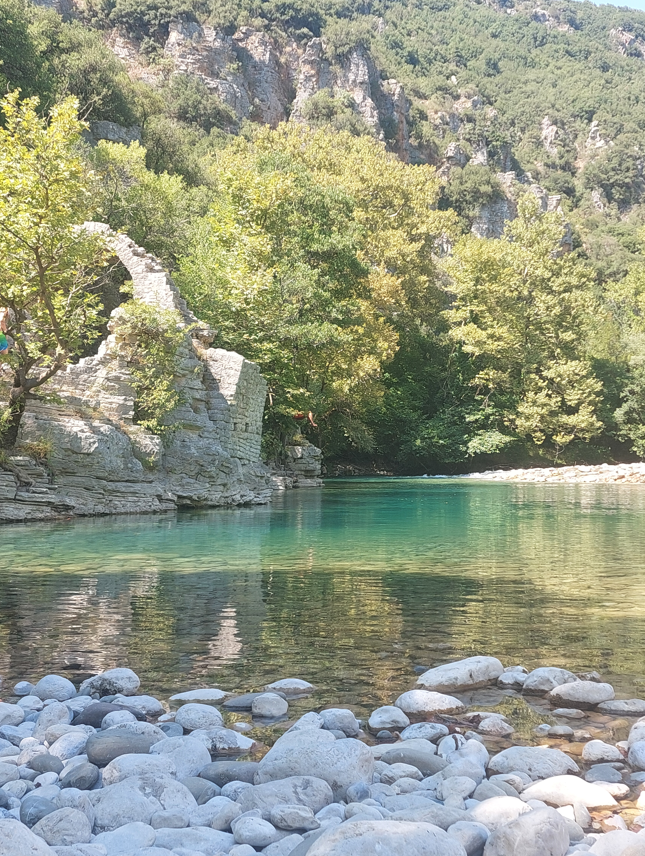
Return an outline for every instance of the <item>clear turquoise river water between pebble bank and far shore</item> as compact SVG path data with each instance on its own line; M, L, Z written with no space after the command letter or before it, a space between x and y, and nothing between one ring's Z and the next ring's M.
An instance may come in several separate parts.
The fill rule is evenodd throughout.
M280 677L391 704L472 654L645 695L645 489L373 479L272 506L0 528L0 675L162 697Z

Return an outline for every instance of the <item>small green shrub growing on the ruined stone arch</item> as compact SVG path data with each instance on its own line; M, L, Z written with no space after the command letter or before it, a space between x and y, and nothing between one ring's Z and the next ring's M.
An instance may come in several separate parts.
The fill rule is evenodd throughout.
M178 312L140 300L121 304L118 337L132 376L134 421L167 439L175 430L168 417L181 404L175 386L177 355L186 331Z

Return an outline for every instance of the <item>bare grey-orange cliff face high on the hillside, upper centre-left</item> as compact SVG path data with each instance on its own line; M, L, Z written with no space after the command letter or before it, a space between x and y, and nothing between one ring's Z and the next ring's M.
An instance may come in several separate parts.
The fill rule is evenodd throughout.
M136 41L115 30L107 44L131 77L153 85L161 82L161 72L142 61ZM321 39L304 44L287 39L278 45L267 33L249 27L230 36L177 20L169 26L163 52L172 74L199 77L240 121L271 127L289 119L302 121L312 95L321 90L349 94L357 114L378 139L386 140L406 161L415 157L403 87L396 80L382 80L369 52L361 47L332 63Z

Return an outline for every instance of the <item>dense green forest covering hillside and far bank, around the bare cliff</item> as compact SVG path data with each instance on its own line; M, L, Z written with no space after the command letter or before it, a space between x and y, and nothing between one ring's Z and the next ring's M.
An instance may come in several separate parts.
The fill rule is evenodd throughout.
M158 255L216 344L260 364L267 457L300 432L330 464L397 472L645 457L645 13L524 0L62 11L0 0L14 93L0 128L5 445L26 397L90 353L127 299L100 241L75 229L94 218ZM321 37L332 70L358 51L405 88L405 151L401 120L370 124L351 86L322 87L275 127L236 112L203 75L177 73L174 21L249 27L285 56ZM115 33L138 73L108 47ZM96 122L136 139L98 139ZM514 219L480 237L500 205ZM163 434L176 342L171 318L144 314L132 307L131 323L157 359L140 421ZM309 411L315 424L294 420Z

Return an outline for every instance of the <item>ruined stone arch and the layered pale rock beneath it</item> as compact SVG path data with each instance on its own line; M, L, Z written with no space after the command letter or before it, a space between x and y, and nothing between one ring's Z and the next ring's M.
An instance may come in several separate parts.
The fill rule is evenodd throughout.
M87 227L109 232L102 224ZM59 403L29 402L17 446L50 453L46 466L10 456L9 471L0 470L0 522L267 502L273 487L260 460L266 382L258 366L210 347L214 332L188 310L159 261L125 235L110 240L134 297L182 319L176 430L164 444L134 422L117 308L97 355L48 385Z

